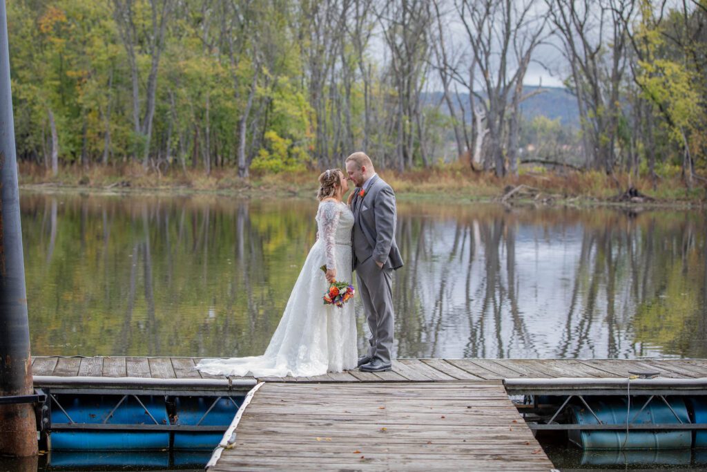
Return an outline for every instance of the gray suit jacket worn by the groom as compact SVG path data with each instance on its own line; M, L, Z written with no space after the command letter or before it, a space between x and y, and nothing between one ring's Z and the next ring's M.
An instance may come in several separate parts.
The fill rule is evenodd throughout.
M395 243L395 193L390 185L374 175L363 197L356 188L351 209L354 211L354 231L351 242L354 246L354 270L368 258L383 264L386 269L402 267L402 257Z

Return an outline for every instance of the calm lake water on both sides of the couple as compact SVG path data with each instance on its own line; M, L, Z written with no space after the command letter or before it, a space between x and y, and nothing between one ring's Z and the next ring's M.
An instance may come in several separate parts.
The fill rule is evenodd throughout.
M33 355L205 357L264 352L317 202L23 192L21 209ZM703 212L398 212L397 357L707 357Z

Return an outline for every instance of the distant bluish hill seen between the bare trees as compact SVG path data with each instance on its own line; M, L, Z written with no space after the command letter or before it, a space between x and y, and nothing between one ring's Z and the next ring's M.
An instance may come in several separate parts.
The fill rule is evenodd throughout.
M566 88L562 87L537 87L525 86L523 93L528 95L533 92L538 92L536 95L527 98L520 104L520 110L523 117L532 120L536 116L548 117L551 120L560 119L562 125L579 128L579 112L577 108L577 99ZM467 123L471 120L469 111L469 94L460 93L460 101L464 104L466 110ZM426 93L422 98L425 103L440 103L442 100L441 92ZM442 110L446 111L444 105ZM460 110L460 108L457 108Z

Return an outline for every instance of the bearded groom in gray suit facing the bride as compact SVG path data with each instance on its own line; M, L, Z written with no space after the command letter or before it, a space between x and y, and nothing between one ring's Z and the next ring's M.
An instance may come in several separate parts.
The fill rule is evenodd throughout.
M358 367L363 372L385 372L390 370L393 347L392 271L402 267L395 243L395 194L363 152L346 158L346 173L356 184L351 240L358 292L370 328L370 348L358 359Z

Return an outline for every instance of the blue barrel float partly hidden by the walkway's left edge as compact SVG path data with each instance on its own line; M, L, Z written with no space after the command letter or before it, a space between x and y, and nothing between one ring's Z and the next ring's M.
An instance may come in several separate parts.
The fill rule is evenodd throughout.
M175 432L174 449L214 449L221 442L223 432L226 432L233 417L238 413L238 408L243 403L243 397L220 398L214 408L209 407L214 403L213 397L188 397L175 398L177 412L176 424L180 426L222 426L220 432ZM209 412L204 416L206 412Z

